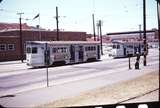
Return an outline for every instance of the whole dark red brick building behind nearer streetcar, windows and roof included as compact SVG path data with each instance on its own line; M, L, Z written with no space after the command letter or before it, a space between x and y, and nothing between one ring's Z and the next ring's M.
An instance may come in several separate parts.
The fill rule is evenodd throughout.
M19 27L19 25L17 26ZM17 26L14 24L13 28ZM3 27L0 26L0 61L19 60L21 57L20 30L13 28L8 24L3 25ZM22 26L23 58L25 59L26 41L55 41L56 39L56 31L38 30L33 27ZM59 40L86 41L86 32L60 31Z

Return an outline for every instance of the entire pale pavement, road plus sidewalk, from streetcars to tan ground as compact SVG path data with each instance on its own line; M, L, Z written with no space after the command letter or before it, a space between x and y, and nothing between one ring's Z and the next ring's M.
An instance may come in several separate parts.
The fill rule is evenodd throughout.
M0 98L0 104L20 107L34 106L133 79L158 70L158 54L158 51L151 52L147 56L147 66L141 65L140 70L128 70L127 58L103 59L100 62L49 68L50 85L54 85L49 88L44 88L46 87L45 69L24 69L25 72L21 74L1 76L1 96L7 94L15 94L16 96ZM134 65L135 60L131 61Z

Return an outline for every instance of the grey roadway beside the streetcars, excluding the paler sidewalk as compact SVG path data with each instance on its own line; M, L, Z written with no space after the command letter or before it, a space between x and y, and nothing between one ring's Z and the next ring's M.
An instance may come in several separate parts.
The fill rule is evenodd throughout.
M148 56L148 64L157 64L157 54L151 53ZM141 57L141 62L143 62ZM131 59L132 68L134 68L135 57ZM141 63L142 64L142 63ZM140 68L143 65L140 66ZM158 66L157 66L158 67ZM104 59L99 62L67 65L61 67L49 68L50 85L62 84L76 80L96 77L119 72L123 68L128 68L128 58L123 59ZM15 71L15 69L14 69ZM13 93L41 88L46 85L46 69L17 69L15 75L0 76L0 94ZM33 88L32 88L32 87Z

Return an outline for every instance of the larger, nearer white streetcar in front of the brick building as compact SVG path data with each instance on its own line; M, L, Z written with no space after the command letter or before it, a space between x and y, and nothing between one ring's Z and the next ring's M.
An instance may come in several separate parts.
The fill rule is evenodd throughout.
M79 63L100 59L100 43L87 41L27 41L27 65L39 67L56 63Z

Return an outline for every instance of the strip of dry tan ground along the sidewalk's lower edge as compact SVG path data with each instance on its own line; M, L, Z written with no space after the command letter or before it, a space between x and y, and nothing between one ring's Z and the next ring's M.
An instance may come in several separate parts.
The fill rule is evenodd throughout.
M97 104L116 104L158 89L158 82L158 72L152 72L136 79L97 88L85 93L81 93L79 96L57 100L45 105L41 105L40 107L70 107ZM142 100L144 102L147 101L145 98L142 98Z

